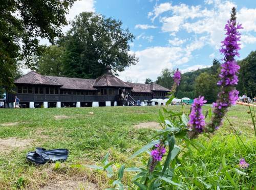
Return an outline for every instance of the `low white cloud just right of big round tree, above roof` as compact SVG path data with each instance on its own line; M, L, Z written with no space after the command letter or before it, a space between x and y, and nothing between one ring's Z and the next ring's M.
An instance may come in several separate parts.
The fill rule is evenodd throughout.
M164 68L172 69L178 65L189 62L193 57L191 56L192 52L201 47L201 42L195 40L184 48L179 46L154 46L134 52L136 57L139 58L139 63L119 73L120 79L125 80L126 77L129 76L141 83L143 83L146 78L156 80Z

